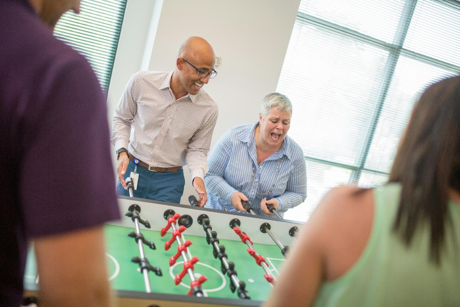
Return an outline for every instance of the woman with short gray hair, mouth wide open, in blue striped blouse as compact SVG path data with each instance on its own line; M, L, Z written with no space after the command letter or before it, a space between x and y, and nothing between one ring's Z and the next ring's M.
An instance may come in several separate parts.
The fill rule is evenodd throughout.
M305 157L287 135L291 117L289 98L270 93L258 122L233 127L219 139L208 157L205 207L246 212L243 200L256 214L271 215L267 204L283 213L305 200Z

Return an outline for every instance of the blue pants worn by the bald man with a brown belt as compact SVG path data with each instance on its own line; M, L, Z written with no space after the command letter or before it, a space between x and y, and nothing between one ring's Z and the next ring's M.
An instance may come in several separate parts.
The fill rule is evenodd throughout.
M125 180L131 172L134 172L134 162L129 160L125 173ZM180 203L180 197L184 194L184 169L177 172L152 172L143 166L138 165L136 173L139 174L138 186L133 190L134 197L160 200L168 203ZM116 185L118 195L129 196L120 181Z

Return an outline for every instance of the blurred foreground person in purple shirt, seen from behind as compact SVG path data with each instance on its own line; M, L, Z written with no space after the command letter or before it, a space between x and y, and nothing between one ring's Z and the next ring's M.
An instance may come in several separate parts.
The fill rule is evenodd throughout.
M120 217L105 96L52 35L79 0L0 1L0 306L18 307L29 241L41 306L109 306L102 224Z

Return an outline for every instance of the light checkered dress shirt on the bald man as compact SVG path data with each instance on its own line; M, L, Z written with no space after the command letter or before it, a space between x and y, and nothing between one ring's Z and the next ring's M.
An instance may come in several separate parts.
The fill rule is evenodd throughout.
M115 109L111 142L150 166L187 164L192 179L203 178L218 106L203 88L176 100L172 75L140 71L131 76Z

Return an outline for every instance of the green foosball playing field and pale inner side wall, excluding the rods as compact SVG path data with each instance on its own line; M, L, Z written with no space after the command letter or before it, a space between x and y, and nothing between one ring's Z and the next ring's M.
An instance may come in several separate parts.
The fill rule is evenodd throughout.
M114 290L118 292L144 292L143 297L145 295L155 296L155 294L162 294L162 297L164 295L177 297L176 295L187 295L190 290L190 276L188 274L184 275L180 284L175 285L174 283L174 277L184 269L184 260L179 256L172 266L169 265L170 257L174 256L178 251L177 241L173 241L171 248L165 250L165 243L171 239L172 230L170 229L164 237L160 235L161 228L167 225L167 220L163 217L163 212L167 209L173 209L181 215L187 214L193 220L192 225L182 233L182 242L185 242L185 240L192 242L186 252L189 260L193 256L199 258L199 261L193 266L194 277L196 279L201 275L207 277L207 281L201 285L203 295L205 297L232 299L229 305L234 305L235 300L239 300L241 304L237 305L256 306L257 304L254 305L255 301L259 301L259 303L260 301L265 301L272 289L272 285L264 277L264 269L257 265L253 256L249 255L247 245L242 243L240 237L230 228L230 220L235 218L241 220L241 230L246 232L251 238L253 248L259 255L264 257L270 274L275 279L278 277L279 270L285 259L280 248L273 243L272 239L266 233L260 232L259 226L264 222L269 222L274 235L276 236L276 233L279 233L278 240L284 240L283 244L285 245L292 245L293 240L295 240L295 238L287 234L288 229L293 225L299 226L295 223L263 219L248 216L247 214L234 214L183 205L154 203L133 198L121 197L119 203L122 215L126 213L127 206L136 203L142 208L140 217L150 221L151 228L148 229L141 226L140 231L147 241L155 243L156 249L150 249L147 244L143 244L144 254L151 266L161 269L162 276L157 276L155 272L149 272L148 276L152 293L145 293L146 285L139 264L131 261L133 256L139 256L139 246L136 239L128 236L129 232L135 230L134 223L131 218L123 216L121 222L114 223L115 225L104 226L109 280ZM223 274L221 271L221 261L219 258L214 258L213 246L207 243L206 232L197 222L197 217L203 213L209 216L210 225L218 234L219 245L225 247L228 261L235 264L237 278L246 284L246 291L251 298L251 304L247 304L249 302L245 303L247 300L239 299L236 291L232 292L230 290L230 278L228 274ZM282 227L278 227L279 225L282 225ZM281 228L284 229L285 234L282 233ZM34 284L36 279L35 258L31 251L27 261L24 280L26 288L28 284ZM183 300L187 300L187 298L183 297ZM225 304L225 300L222 301L222 304Z

